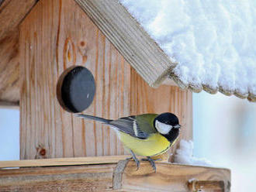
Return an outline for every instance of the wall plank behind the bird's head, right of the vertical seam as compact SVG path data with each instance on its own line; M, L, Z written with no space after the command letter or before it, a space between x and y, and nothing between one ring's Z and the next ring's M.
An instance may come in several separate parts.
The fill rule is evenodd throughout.
M182 129L178 137L180 139L192 139L192 92L181 90L178 87L161 85L157 89L150 87L135 70L131 70L131 101L130 111L132 115L142 113L172 112L178 116ZM169 154L175 154L178 147L175 143ZM171 156L171 161L173 161Z

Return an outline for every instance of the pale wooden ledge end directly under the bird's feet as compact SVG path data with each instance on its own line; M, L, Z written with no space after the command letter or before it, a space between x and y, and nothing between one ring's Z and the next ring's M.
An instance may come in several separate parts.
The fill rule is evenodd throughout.
M129 162L123 173L123 190L191 191L189 190L189 180L193 179L223 180L225 191L230 191L230 170L227 169L157 163L157 173L154 173L149 163L142 163L140 169L136 170L134 163Z

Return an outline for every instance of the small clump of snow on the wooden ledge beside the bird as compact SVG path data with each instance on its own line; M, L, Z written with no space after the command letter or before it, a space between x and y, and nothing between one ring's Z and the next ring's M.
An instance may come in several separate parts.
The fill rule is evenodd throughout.
M176 150L175 163L195 166L211 166L208 160L196 158L193 154L193 142L181 140L179 149Z

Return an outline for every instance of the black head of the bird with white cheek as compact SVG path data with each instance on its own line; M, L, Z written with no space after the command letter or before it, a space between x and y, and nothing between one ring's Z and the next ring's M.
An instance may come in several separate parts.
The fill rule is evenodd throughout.
M168 141L173 142L178 137L181 125L179 125L176 115L166 112L154 118L154 128Z

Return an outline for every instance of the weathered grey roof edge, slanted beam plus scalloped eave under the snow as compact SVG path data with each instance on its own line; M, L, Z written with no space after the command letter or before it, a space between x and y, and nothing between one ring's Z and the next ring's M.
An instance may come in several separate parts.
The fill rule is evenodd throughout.
M234 94L239 98L247 98L249 101L256 101L256 95L251 92L244 94L240 93L238 90L232 91L220 86L214 88L205 84L195 86L192 82L185 83L182 81L181 78L173 72L173 69L178 63L173 63L169 57L166 58L166 55L159 48L157 43L154 43L154 39L151 39L147 35L140 24L130 15L130 12L127 12L123 5L120 5L118 0L75 1L81 5L81 9L91 17L93 22L95 22L99 29L102 30L150 86L157 87L164 79L170 78L175 81L179 87L183 89L189 88L196 93L205 90L210 94L215 94L217 91L220 91L226 95ZM123 44L127 47L123 47ZM147 58L150 56L150 53L146 53L145 50L149 52L159 50L159 52L153 51L156 53L153 55L154 60L149 59L137 62L136 57ZM126 53L128 53L128 55L126 55ZM140 71L140 67L142 66L147 70ZM151 70L151 73L148 73L148 70Z

